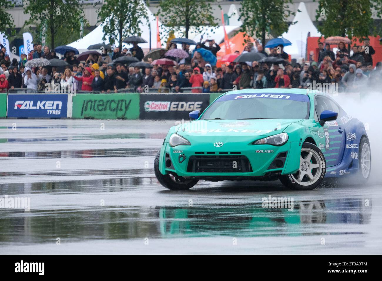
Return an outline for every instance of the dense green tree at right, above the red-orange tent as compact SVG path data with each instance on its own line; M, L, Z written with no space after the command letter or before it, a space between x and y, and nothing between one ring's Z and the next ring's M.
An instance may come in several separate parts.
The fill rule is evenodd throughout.
M372 12L374 10L374 12ZM317 29L324 37L348 36L365 38L379 31L372 16L381 17L382 0L319 0L316 20L322 20Z

